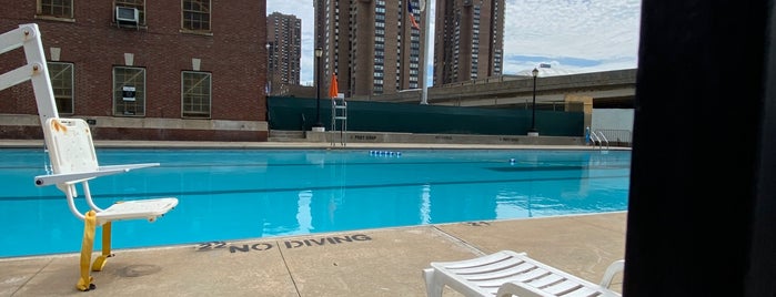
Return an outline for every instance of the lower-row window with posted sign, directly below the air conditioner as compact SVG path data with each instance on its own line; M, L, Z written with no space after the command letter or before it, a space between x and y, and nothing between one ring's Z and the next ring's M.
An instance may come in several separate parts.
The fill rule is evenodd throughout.
M113 115L145 115L145 69L113 68Z

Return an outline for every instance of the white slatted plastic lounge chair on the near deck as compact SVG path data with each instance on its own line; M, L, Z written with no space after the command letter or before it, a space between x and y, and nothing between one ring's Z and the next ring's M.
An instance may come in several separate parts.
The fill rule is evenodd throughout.
M434 262L423 269L429 297L441 297L445 286L465 296L621 296L608 289L625 262L609 265L601 284L593 284L546 264L525 253L501 250L460 262Z

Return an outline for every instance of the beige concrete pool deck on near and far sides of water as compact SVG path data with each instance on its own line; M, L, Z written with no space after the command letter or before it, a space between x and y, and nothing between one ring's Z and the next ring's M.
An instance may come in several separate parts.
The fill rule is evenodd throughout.
M164 144L165 147L192 145ZM123 142L97 145L133 146ZM11 141L2 146L40 147L42 142ZM224 144L195 145L214 146L224 147ZM329 143L233 143L232 146L331 147ZM346 147L453 148L385 143ZM473 258L501 249L526 252L535 259L598 283L608 264L625 255L626 221L627 212L615 212L114 249L115 256L109 258L104 269L91 274L97 288L90 291L75 289L79 254L0 258L0 296L425 296L421 270L429 263ZM622 276L617 276L612 288L619 290L621 286ZM446 288L443 296L462 295Z

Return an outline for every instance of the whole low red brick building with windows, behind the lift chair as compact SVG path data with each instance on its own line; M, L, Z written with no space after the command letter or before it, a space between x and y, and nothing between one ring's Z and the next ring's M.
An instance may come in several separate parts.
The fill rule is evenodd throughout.
M60 116L95 140L266 141L265 1L18 2L0 32L38 23ZM0 91L0 139L42 139L29 82Z

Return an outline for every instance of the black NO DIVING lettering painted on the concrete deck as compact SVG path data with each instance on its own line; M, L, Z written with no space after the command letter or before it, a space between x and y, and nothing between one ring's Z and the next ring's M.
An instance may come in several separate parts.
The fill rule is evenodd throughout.
M291 240L285 240L285 242L261 242L261 243L254 243L254 244L229 244L225 242L209 242L209 243L201 243L198 244L195 249L198 252L205 252L205 250L215 250L215 249L222 249L225 248L229 250L229 253L248 253L251 250L269 250L275 247L275 243L278 244L278 247L285 247L286 249L291 248L300 248L300 247L314 247L314 246L323 246L323 245L336 245L336 244L344 244L344 243L353 243L353 242L366 242L366 240L372 240L372 237L363 234L355 234L355 235L345 235L345 236L329 236L329 237L319 237L319 238L309 238L309 239L291 239Z

